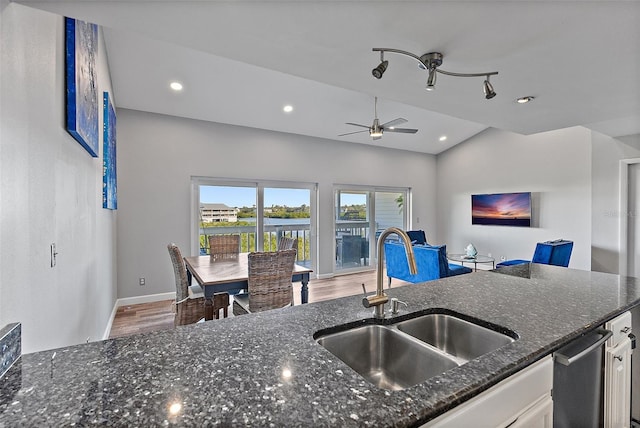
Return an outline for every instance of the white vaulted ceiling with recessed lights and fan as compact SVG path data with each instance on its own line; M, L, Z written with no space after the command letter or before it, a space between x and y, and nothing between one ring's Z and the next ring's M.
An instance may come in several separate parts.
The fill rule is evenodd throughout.
M487 127L640 133L638 1L19 3L103 26L118 108L432 154ZM427 92L427 73L397 54L377 80L375 47L498 71L498 95L485 99L483 78L446 75ZM381 122L402 117L418 133L338 137L358 130L345 122L372 123L374 96Z

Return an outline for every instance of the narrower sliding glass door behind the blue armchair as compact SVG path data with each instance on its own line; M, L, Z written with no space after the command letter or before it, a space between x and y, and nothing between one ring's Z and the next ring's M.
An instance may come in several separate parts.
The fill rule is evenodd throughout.
M380 233L391 226L406 228L409 189L336 186L334 196L335 271L370 269Z

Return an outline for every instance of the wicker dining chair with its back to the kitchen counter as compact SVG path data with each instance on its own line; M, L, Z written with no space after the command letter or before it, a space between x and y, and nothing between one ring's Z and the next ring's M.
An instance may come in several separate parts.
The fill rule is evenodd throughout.
M233 314L244 315L293 304L291 275L296 250L249 253L247 294L233 297Z

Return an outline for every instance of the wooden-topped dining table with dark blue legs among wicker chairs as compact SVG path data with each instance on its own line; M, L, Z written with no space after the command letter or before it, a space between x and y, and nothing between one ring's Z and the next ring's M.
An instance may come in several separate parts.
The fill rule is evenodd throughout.
M187 279L191 284L195 278L204 290L205 320L213 319L213 296L216 293L247 290L249 286L249 253L238 253L237 257L213 258L211 256L185 257ZM294 264L291 282L302 283L302 303L309 301L309 274L313 270ZM292 302L293 304L293 302Z

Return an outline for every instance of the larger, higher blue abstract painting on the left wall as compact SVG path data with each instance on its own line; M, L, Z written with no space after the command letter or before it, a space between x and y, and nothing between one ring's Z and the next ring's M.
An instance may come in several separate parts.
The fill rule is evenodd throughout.
M98 157L98 26L65 17L67 131Z

